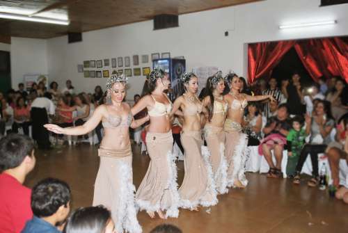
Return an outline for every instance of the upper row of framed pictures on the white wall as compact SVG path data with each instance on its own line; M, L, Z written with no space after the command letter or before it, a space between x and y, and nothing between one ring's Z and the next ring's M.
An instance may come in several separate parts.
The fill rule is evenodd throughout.
M171 53L166 52L161 54L161 58L170 58ZM151 59L159 59L159 53L151 54ZM141 63L148 63L149 62L149 56L148 55L142 55L141 56ZM104 63L104 65L103 65ZM133 56L133 65L139 65L139 55L134 55ZM81 65L79 65L81 66ZM102 67L108 67L110 66L110 59L104 59L104 60L91 60L91 61L84 61L84 65L82 67L78 66L78 71L83 72L83 69L81 71L81 68L102 68ZM118 57L116 58L111 58L111 67L123 67L123 58ZM125 56L125 67L130 67L130 57Z

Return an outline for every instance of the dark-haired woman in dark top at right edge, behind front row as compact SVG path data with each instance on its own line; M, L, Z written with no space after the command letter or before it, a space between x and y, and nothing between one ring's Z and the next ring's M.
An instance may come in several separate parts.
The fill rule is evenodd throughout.
M348 87L343 79L336 79L335 87L329 92L326 99L331 102L333 118L336 121L348 112Z

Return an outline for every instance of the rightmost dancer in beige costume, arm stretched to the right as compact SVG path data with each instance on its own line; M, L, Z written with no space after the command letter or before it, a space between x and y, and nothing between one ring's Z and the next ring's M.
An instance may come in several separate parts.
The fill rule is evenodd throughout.
M251 96L239 93L241 81L230 73L225 77L230 93L225 95L228 102L228 115L223 129L226 132L226 159L228 162L228 187L244 188L248 184L245 172L248 138L242 133L244 109L248 101L260 101L274 98L271 95Z

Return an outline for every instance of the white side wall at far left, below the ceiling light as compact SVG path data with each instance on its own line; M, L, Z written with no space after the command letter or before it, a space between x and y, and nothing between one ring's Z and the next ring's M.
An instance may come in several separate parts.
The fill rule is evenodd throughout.
M10 59L13 88L24 81L24 74L47 74L46 40L11 38Z

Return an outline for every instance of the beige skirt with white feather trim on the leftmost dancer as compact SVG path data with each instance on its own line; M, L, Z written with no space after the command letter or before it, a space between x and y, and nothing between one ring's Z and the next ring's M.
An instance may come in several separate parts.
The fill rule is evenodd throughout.
M131 145L124 150L100 147L100 167L95 179L93 206L111 210L117 232L141 233L134 203Z

